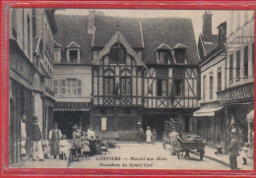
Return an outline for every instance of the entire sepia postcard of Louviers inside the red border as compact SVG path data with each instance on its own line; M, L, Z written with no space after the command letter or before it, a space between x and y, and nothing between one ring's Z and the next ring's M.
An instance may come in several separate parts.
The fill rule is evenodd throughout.
M254 11L8 13L11 168L254 169Z

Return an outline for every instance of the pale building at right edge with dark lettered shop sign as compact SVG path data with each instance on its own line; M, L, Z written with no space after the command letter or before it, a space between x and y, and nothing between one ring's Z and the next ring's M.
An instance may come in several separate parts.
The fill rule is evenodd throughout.
M226 88L217 92L224 105L225 138L228 142L228 131L235 128L241 144L251 143L253 122L246 117L254 109L254 12L231 12L227 27Z

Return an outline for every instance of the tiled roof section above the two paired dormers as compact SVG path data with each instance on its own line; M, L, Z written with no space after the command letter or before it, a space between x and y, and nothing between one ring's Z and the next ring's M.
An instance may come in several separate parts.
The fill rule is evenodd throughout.
M144 61L157 63L155 49L161 44L171 48L178 43L187 46L187 64L197 64L199 55L192 21L180 18L142 19Z

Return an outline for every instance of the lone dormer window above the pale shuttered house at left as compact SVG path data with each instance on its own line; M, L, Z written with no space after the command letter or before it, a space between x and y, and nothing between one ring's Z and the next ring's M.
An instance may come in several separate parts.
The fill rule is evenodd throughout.
M76 42L71 42L67 46L67 60L70 63L79 63L80 62L80 48L81 46Z

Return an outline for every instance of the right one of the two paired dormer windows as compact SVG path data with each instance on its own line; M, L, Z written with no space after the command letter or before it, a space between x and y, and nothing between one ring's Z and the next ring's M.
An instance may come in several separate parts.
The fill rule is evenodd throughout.
M186 49L187 46L178 43L173 47L174 61L176 64L186 64Z

